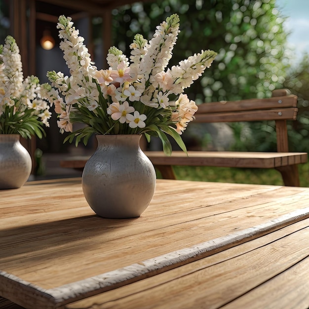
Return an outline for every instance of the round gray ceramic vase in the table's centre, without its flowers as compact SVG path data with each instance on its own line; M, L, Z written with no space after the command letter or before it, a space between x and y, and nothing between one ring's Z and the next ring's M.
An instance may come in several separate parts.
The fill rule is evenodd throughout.
M97 150L82 173L82 190L100 217L139 217L152 200L155 170L140 139L137 134L97 135Z

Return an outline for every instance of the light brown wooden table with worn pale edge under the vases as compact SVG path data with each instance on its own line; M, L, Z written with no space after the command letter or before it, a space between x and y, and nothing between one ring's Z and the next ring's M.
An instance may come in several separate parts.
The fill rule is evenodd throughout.
M309 307L309 188L157 180L113 220L80 178L45 180L0 213L0 308Z

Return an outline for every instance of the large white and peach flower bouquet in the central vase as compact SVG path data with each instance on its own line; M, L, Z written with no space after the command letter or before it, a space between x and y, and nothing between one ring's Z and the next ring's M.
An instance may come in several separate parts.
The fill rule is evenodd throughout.
M201 51L166 69L179 33L177 14L162 22L149 42L142 35L134 37L130 62L111 47L107 70L93 65L70 17L60 16L57 28L71 76L48 72L51 85L41 87L43 97L55 104L60 132L72 132L65 141L76 138L76 145L81 140L86 145L93 133L145 134L148 141L159 137L164 153L171 154L168 134L186 151L180 135L197 106L183 92L211 65L216 53ZM73 131L76 122L86 126Z

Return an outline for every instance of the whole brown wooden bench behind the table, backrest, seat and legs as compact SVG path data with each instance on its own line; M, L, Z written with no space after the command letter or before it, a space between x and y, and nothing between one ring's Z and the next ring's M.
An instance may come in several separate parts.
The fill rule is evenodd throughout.
M290 153L287 120L296 120L297 96L288 90L274 90L271 98L204 103L198 106L194 122L237 122L274 120L277 152L146 151L164 179L176 179L174 165L218 166L237 168L274 168L285 186L300 186L298 164L308 161L307 153ZM190 125L190 124L189 124ZM87 157L71 157L60 162L62 167L82 169Z

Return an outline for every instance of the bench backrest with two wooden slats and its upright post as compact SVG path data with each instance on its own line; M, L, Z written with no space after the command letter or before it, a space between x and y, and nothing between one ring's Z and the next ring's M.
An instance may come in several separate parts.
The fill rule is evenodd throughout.
M278 89L271 98L203 103L198 105L194 122L274 120L277 151L289 152L286 121L296 120L297 112L297 96Z

